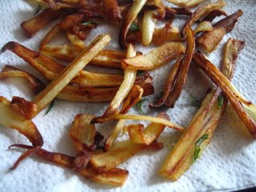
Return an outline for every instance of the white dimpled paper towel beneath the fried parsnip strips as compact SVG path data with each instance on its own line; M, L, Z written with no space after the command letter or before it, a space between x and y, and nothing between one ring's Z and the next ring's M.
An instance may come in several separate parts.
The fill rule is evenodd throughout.
M219 66L222 58L222 45L227 38L238 38L246 41L246 48L238 58L234 74L234 85L256 103L255 82L256 82L256 1L255 0L234 0L226 1L225 8L228 14L238 9L244 11L234 30L223 39L220 49L208 55L215 65ZM38 43L54 24L40 31L34 38L28 39L22 34L20 23L33 16L36 7L30 6L26 1L14 0L0 1L0 46L6 42L17 41L33 50L38 49ZM184 22L184 21L183 21ZM118 48L116 43L118 30L114 26L103 26L94 30L87 42L95 37L95 34L110 33L113 42L110 48ZM148 49L142 50L143 52ZM42 78L21 58L18 58L10 51L0 54L0 70L5 65L18 66L28 70ZM157 112L150 112L147 104L157 98L162 90L166 75L172 63L153 71L155 95L143 105L145 114L155 115ZM92 69L90 69L92 70ZM171 119L182 126L186 126L197 110L191 105L190 94L195 98L203 98L206 90L212 83L194 65L190 67L186 87L182 91L174 109L168 110ZM19 79L9 79L0 82L0 95L11 99L14 95L26 99L32 99L34 94L26 88L26 82ZM49 114L45 110L34 118L35 124L42 133L45 144L44 148L50 151L74 155L75 150L68 131L70 124L76 114L90 113L100 115L106 109L106 104L91 104L78 102L63 102L57 100ZM137 110L132 110L137 114ZM110 132L113 123L106 123L106 127L99 126L98 129L105 134ZM130 171L129 178L122 187L114 188L90 182L71 170L62 169L45 162L41 158L32 156L27 158L18 166L17 170L9 172L8 169L21 154L21 150L7 150L8 146L14 143L30 144L26 138L15 130L0 126L0 189L1 191L206 191L206 190L234 190L245 186L256 186L256 142L246 133L245 127L234 114L230 107L222 118L214 134L210 145L206 148L202 157L191 166L178 180L170 182L158 176L157 172L162 162L169 154L178 140L180 134L166 130L159 141L165 143L163 150L143 151L130 158L120 167Z

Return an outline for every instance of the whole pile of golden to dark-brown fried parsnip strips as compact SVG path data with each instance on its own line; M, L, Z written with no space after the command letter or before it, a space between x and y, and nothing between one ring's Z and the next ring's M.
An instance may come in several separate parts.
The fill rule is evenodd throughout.
M231 79L238 54L245 43L234 38L226 42L222 70L218 70L200 50L211 53L218 48L222 38L234 29L242 10L226 14L223 0L168 0L178 8L167 7L162 0L34 0L38 10L34 18L22 22L27 38L33 38L39 30L58 18L58 23L40 42L39 50L30 50L18 42L7 42L3 51L10 50L38 70L48 81L41 82L33 74L14 66L5 66L0 79L25 78L36 96L32 101L14 96L11 101L0 97L0 123L18 130L31 142L31 146L14 144L26 152L19 162L38 154L46 161L64 166L90 178L114 186L126 182L129 171L117 168L122 162L141 150L162 149L158 142L165 128L182 133L174 149L163 163L159 174L177 180L200 157L210 143L218 122L225 113L228 102L244 122L252 136L256 136L256 106L236 90ZM194 8L191 12L190 8ZM43 10L41 10L43 9ZM173 25L178 17L186 18L182 29ZM218 22L215 18L224 17ZM118 43L121 50L104 50L110 42L109 34L98 34L89 45L85 40L99 22L108 22L119 30ZM158 22L165 26L157 28ZM195 26L194 30L192 26ZM50 44L58 34L66 35L62 46ZM135 44L154 45L154 50L142 54ZM203 99L197 113L187 127L170 121L166 113L157 117L128 114L130 109L142 102L143 97L154 94L150 70L157 70L170 61L170 69L161 98L149 105L150 109L172 108L182 94L190 63L194 62L216 85ZM67 62L62 65L58 61ZM86 65L123 70L123 74L93 73L83 70ZM78 114L70 128L77 155L71 157L42 149L43 138L32 119L54 98L74 102L109 102L102 116ZM96 103L94 105L97 105ZM61 114L60 114L61 115ZM151 122L128 124L128 120ZM116 126L104 139L96 129L96 123L115 121ZM129 139L117 142L121 133ZM102 145L103 143L103 145Z

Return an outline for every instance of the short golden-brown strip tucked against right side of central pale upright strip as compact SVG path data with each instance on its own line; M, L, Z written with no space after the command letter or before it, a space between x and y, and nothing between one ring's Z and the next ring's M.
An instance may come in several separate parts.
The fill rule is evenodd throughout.
M122 110L120 110L120 114L128 113L130 108L136 105L136 103L142 99L142 95L143 95L142 87L138 85L134 85L122 104Z

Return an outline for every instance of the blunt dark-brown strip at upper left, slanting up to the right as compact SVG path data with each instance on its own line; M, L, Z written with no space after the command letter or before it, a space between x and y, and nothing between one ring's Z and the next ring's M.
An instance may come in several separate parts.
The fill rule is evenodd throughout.
M46 8L40 14L36 15L34 18L30 18L26 22L22 22L22 29L26 34L26 37L32 38L34 34L38 33L44 26L54 21L58 16L62 14L61 10L50 10Z

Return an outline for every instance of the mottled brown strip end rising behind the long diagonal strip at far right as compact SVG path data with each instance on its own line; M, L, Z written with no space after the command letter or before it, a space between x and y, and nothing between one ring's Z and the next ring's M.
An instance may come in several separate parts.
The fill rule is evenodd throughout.
M245 42L238 41L234 38L229 38L226 42L223 55L222 74L227 78L232 79L234 75L234 64L238 59L238 54L244 48ZM231 71L230 77L226 74Z

